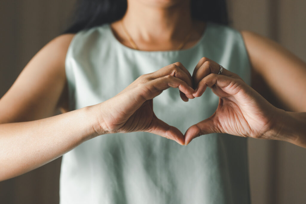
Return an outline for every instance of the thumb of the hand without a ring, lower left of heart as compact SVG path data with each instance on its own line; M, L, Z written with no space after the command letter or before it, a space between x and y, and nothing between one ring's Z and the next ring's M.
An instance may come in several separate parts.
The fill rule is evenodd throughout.
M185 144L185 137L179 129L170 126L169 124L165 123L164 121L158 118L156 118L153 121L153 127L150 128L150 130L147 132L153 133L155 135L160 135L168 139L172 139L177 143L179 143L180 145Z

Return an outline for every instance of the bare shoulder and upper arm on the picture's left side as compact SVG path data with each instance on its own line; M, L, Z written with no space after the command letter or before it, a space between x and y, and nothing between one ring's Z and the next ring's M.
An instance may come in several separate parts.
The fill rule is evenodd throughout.
M32 57L0 99L0 123L50 117L65 104L65 58L74 35L55 37Z

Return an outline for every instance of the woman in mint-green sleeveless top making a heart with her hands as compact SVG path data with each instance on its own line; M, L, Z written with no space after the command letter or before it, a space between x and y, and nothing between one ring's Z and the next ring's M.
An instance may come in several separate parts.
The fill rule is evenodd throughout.
M249 203L244 137L306 147L306 65L221 25L214 2L80 4L0 100L0 179L66 153L61 203ZM252 89L251 67L296 112Z

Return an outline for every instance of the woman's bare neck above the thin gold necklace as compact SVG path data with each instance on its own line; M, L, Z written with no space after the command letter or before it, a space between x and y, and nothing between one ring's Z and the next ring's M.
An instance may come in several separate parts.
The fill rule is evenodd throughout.
M193 23L190 1L162 7L129 0L122 21L133 40L149 43L181 42Z

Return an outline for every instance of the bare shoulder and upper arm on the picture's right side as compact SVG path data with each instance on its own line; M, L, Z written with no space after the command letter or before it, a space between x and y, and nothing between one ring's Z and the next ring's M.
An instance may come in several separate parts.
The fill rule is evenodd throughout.
M270 90L275 101L282 103L287 110L305 111L306 63L267 37L250 31L241 31L241 35L252 67L252 86L256 91L261 88ZM295 87L294 91L292 87Z

